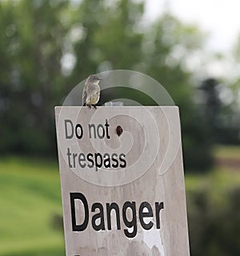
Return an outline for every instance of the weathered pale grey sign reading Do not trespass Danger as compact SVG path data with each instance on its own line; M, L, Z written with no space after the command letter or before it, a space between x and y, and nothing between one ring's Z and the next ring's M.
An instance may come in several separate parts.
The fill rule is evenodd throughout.
M190 255L178 107L55 116L66 255Z

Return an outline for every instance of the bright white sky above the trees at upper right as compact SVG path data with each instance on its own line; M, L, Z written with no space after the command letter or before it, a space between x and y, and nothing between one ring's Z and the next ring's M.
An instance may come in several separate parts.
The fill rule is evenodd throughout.
M167 6L183 22L194 22L209 33L208 50L233 48L240 34L239 0L145 0L146 17L150 20Z

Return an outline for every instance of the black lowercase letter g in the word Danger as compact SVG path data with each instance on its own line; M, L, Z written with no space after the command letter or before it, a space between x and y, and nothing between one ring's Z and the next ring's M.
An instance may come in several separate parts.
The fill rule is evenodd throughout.
M132 211L132 220L129 221L126 218L126 210L130 209ZM137 234L138 228L137 228L137 218L136 218L136 203L135 202L125 202L122 206L122 219L124 224L128 228L134 228L132 232L129 232L128 229L124 229L124 234L127 238L134 238Z

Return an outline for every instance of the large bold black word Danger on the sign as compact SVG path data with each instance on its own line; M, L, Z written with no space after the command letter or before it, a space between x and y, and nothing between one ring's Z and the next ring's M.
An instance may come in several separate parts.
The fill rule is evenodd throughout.
M76 206L83 205L83 212L76 214ZM117 226L117 230L121 230L120 215L126 228L123 229L127 238L134 238L138 234L137 225L137 209L136 202L124 202L119 209L118 203L106 202L106 208L101 202L94 202L89 208L86 197L82 193L70 193L70 206L71 206L71 218L72 218L72 230L81 232L86 230L89 222L94 230L112 230L113 213L115 215L114 226ZM78 207L79 209L79 207ZM163 209L163 202L155 202L154 210L149 202L142 202L138 207L138 218L140 224L144 230L150 230L154 226L153 219L155 219L156 229L160 229L160 211ZM90 217L90 213L93 213ZM106 216L104 215L106 214ZM78 215L78 219L77 219ZM131 216L129 218L129 216ZM91 218L91 221L90 221ZM149 218L149 219L148 219ZM81 222L81 223L79 223ZM78 224L77 224L78 223Z

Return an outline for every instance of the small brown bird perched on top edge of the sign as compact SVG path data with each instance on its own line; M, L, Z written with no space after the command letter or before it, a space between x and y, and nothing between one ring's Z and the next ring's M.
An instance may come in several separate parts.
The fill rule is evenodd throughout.
M83 106L94 106L96 109L96 104L100 98L100 86L99 82L102 78L98 78L96 74L90 74L89 78L86 79L85 86L82 92L82 105Z

